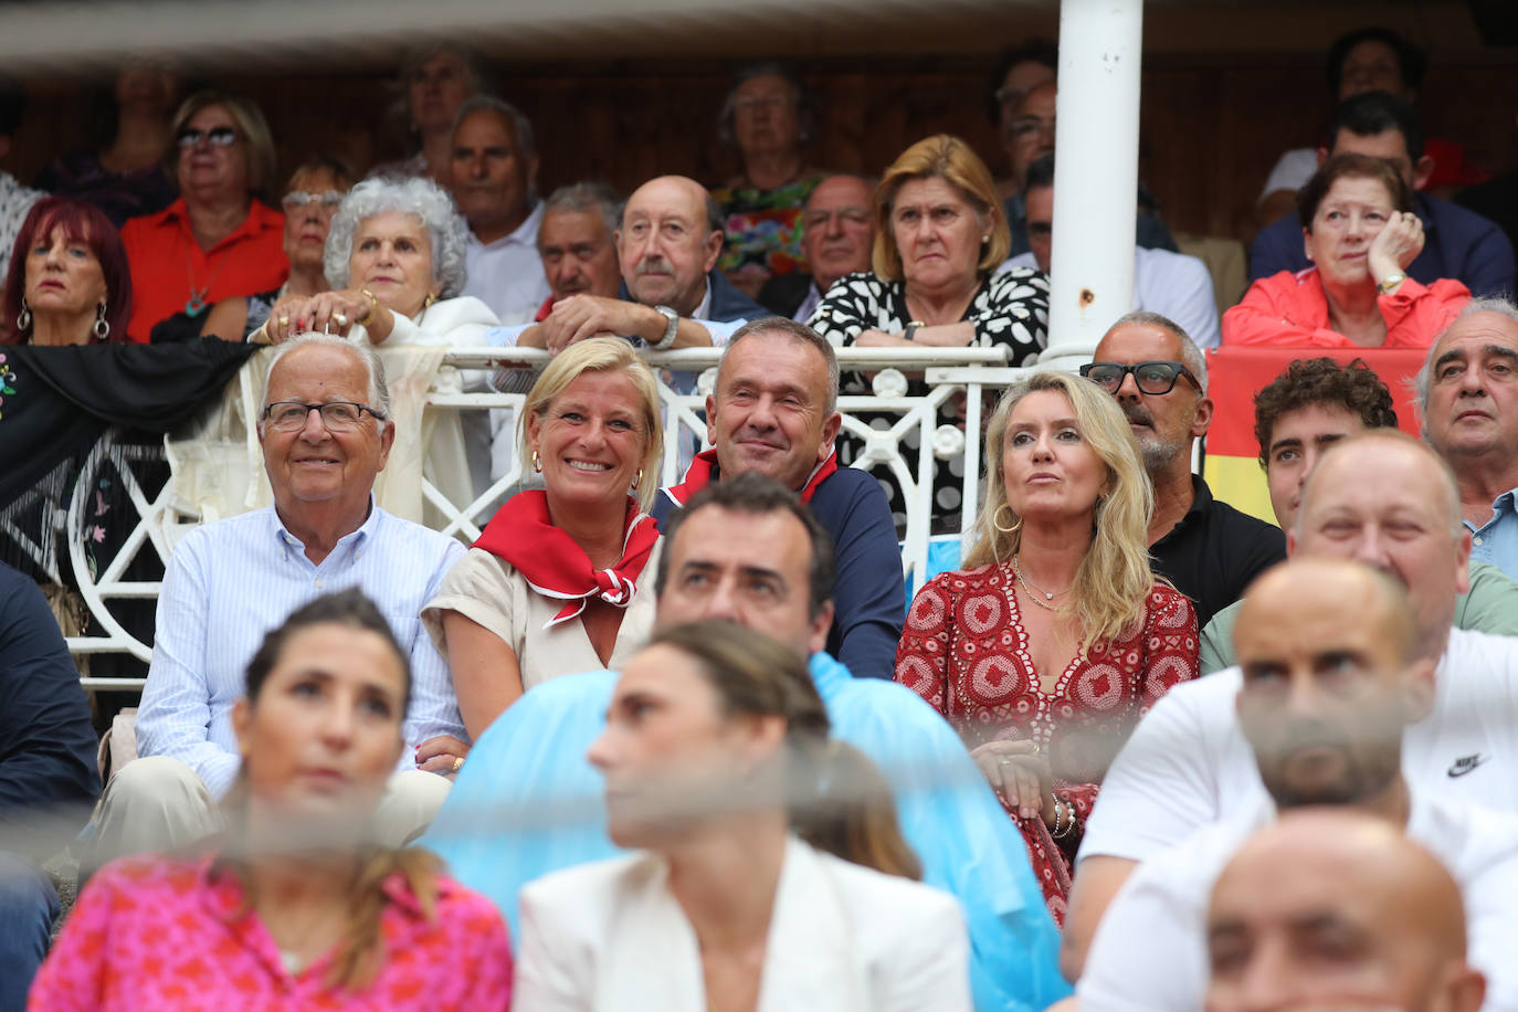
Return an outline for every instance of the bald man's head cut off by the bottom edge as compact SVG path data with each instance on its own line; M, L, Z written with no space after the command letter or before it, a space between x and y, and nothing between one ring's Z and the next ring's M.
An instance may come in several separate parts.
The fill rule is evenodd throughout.
M1207 948L1207 1012L1475 1012L1486 991L1454 878L1353 812L1287 813L1251 838L1213 886Z

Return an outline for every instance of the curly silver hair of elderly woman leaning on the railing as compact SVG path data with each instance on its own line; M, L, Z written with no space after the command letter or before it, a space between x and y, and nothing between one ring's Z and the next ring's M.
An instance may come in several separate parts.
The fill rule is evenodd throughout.
M442 297L452 299L465 288L465 246L469 228L454 208L454 200L431 179L366 179L343 197L326 234L322 270L332 288L348 288L348 264L354 256L354 234L376 214L411 214L433 243L433 281L443 285Z

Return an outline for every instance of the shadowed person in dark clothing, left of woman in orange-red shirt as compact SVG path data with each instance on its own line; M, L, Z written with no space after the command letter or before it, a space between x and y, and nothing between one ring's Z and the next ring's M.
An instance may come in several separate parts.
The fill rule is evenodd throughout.
M33 185L100 208L117 228L140 214L162 211L175 199L164 152L173 140L178 103L179 77L172 70L146 59L128 61L111 88L94 100L93 147L59 155Z

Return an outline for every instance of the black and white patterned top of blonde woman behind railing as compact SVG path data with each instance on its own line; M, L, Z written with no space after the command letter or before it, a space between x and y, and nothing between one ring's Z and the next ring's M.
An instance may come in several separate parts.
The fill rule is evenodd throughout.
M1006 344L1013 349L1008 364L1032 366L1038 361L1038 352L1049 343L1049 278L1026 267L993 275L981 282L962 319L975 325L970 347ZM911 320L912 316L906 310L905 282L883 281L873 273L858 273L833 282L808 325L832 341L835 347L849 347L865 331L900 334ZM868 381L859 373L844 373L839 385L842 393L870 393ZM912 384L912 393L921 393L921 384ZM879 429L891 428L899 416L885 413L859 416L859 420ZM940 425L961 423L961 419L940 411L938 422ZM908 461L917 460L917 431L912 429L902 438L902 452ZM861 442L856 437L839 435L839 464L850 464L859 451ZM891 501L891 514L896 519L897 533L902 534L906 530L906 498L890 470L883 466L873 470ZM931 520L934 534L959 530L962 489L964 458L937 461Z

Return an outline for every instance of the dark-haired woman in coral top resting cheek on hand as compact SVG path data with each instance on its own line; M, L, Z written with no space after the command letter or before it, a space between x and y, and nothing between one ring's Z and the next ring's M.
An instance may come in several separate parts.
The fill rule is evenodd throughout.
M1313 267L1249 285L1224 314L1224 347L1428 347L1469 302L1453 278L1424 287L1412 191L1381 158L1334 155L1296 194Z

